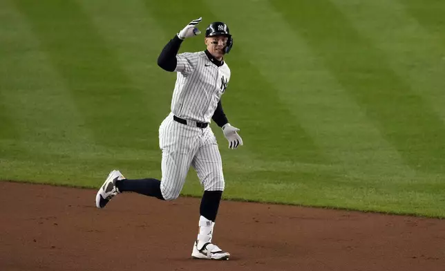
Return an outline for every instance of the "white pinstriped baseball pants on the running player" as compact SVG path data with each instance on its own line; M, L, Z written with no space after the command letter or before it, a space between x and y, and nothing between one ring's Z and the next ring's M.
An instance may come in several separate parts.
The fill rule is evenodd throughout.
M159 127L162 150L161 192L165 200L178 198L192 166L205 191L225 188L223 162L210 127L198 128L173 120L173 113Z

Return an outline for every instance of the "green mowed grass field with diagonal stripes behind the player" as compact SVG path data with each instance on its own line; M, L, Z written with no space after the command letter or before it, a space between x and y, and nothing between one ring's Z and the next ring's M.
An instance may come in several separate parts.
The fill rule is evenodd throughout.
M445 217L444 14L442 0L2 0L0 179L160 178L176 74L156 60L202 16L234 35L223 104L245 145L211 124L225 198ZM183 194L201 193L191 170Z

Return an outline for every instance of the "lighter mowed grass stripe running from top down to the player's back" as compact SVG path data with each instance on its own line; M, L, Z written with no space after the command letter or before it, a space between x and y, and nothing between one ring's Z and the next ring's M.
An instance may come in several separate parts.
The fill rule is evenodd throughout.
M146 16L145 5L140 0L77 2L113 50L133 87L138 89L144 102L144 108L140 110L150 119L141 123L138 129L153 148L159 149L158 126L170 111L174 83L157 64L160 50L167 40L158 21Z

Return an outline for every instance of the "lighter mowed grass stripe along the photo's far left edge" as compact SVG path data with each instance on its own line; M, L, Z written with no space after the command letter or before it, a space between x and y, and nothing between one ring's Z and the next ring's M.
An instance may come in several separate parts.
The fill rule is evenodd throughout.
M2 63L7 67L0 73L1 96L13 120L12 124L2 122L1 130L16 129L17 135L0 140L0 179L64 181L61 175L79 172L79 159L70 171L58 171L58 164L82 152L84 146L91 147L91 135L26 18L11 1L1 4L7 15L7 27L0 30L0 50L6 52Z

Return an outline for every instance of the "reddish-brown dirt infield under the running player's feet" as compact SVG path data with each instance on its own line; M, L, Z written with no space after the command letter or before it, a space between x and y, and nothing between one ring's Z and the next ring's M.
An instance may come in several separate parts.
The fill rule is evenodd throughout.
M215 243L193 260L197 198L0 182L0 270L445 270L445 221L224 201Z

